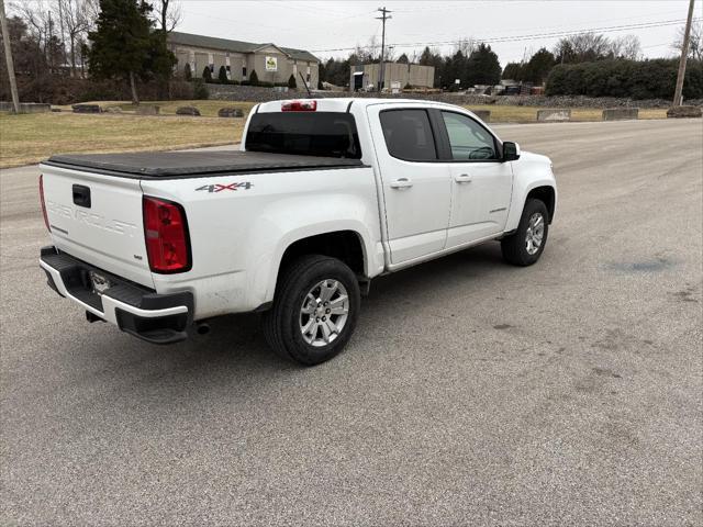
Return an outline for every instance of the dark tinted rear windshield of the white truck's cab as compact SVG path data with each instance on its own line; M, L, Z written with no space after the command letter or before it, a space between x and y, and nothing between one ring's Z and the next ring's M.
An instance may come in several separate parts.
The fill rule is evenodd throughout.
M361 158L354 116L341 112L256 113L246 134L246 149Z

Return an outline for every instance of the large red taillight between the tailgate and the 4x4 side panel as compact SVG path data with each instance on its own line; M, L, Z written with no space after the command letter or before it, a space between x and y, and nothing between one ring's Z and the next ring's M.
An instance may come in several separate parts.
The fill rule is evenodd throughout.
M154 272L183 272L191 268L186 211L178 203L144 197L144 236Z

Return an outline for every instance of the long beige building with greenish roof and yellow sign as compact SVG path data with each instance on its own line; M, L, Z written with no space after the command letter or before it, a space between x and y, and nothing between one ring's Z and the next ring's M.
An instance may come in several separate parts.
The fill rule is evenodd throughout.
M188 64L193 77L202 77L203 70L210 68L216 79L224 66L227 78L238 82L249 80L252 71L256 71L259 81L266 82L288 82L292 75L300 89L303 88L302 75L311 89L317 88L320 60L303 49L176 31L169 34L168 42L178 59L176 68L181 74Z

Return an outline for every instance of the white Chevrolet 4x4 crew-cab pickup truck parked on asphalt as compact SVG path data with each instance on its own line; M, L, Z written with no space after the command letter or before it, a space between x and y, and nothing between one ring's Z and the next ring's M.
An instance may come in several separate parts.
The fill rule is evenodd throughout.
M54 156L41 172L41 267L88 321L169 344L261 312L304 365L344 348L373 277L494 239L534 264L557 202L548 158L413 100L267 102L239 152Z

